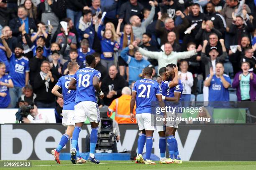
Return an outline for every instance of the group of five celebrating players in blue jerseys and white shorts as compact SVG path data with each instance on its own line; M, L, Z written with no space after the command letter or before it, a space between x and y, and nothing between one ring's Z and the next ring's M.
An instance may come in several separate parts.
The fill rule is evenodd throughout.
M67 144L69 139L72 143L71 162L86 163L79 155L78 137L84 121L88 118L92 131L90 134L90 156L88 161L99 164L100 161L95 158L95 148L97 144L97 131L100 122L100 112L97 105L95 91L99 97L103 98L104 93L100 89L99 80L101 73L95 70L95 57L86 56L86 67L79 70L77 62L69 62L69 74L59 78L57 84L52 89L52 93L57 97L64 99L62 110L62 125L67 126L66 133L61 137L56 149L51 150L54 159L60 164L59 153ZM159 69L158 80L152 80L153 70L151 67L143 69L143 79L137 80L132 90L130 110L133 110L136 102L136 115L131 111L131 120L136 118L141 135L138 138L138 154L136 163L154 165L150 160L153 145L153 133L157 130L159 133L160 163L182 163L179 157L175 131L178 128L178 121L172 123L163 122L163 125L156 126L151 121L152 102L159 102L161 108L165 107L164 101L172 101L180 105L183 85L178 78L178 68L175 64L168 64ZM62 94L58 92L62 89ZM166 118L166 112L162 112ZM172 117L177 117L178 112L172 112ZM169 158L165 157L166 140L169 149ZM146 143L146 159L142 157L144 145Z

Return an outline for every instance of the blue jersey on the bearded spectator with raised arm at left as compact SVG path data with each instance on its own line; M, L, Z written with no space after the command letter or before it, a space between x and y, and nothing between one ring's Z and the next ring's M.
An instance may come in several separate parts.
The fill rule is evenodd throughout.
M28 59L26 57L16 58L15 54L12 53L10 56L10 76L14 86L25 86L26 72L29 72Z

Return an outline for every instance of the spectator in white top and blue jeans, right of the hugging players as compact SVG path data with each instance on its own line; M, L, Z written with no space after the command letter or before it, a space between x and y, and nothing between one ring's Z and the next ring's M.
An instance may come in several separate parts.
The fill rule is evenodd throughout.
M183 107L189 107L191 98L191 87L193 86L194 79L192 73L187 71L188 62L186 60L182 60L179 67L179 80L181 80L183 84L182 97L180 101L183 102Z

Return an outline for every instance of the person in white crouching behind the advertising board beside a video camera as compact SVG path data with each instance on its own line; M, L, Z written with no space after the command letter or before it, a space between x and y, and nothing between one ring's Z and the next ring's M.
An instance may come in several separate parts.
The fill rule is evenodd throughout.
M30 115L33 117L33 120L29 120L28 117L23 117L24 123L49 123L45 115L38 113L36 105L34 105L34 108L30 110Z

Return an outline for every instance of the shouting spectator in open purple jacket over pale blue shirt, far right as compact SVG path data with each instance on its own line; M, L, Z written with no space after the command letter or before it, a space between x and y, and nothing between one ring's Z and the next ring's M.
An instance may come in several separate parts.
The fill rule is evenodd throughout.
M249 72L250 63L242 62L242 71L236 73L232 87L236 88L238 101L256 100L256 74Z

